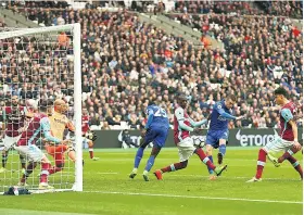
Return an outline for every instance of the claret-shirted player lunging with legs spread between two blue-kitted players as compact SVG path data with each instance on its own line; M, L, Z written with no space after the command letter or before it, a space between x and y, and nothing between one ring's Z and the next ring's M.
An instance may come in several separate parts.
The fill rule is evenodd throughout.
M163 173L175 172L182 168L186 168L188 165L188 160L192 156L193 153L198 154L200 160L206 164L214 173L219 176L223 170L227 168L227 165L224 166L214 166L212 161L205 155L204 151L201 148L195 148L193 146L193 140L190 137L190 131L199 131L199 126L205 124L207 119L201 122L193 122L187 114L188 98L186 96L178 97L179 108L175 110L174 114L174 140L178 148L179 153L179 163L172 164L162 169L155 170L154 175L159 180L163 179ZM192 128L191 126L195 127Z

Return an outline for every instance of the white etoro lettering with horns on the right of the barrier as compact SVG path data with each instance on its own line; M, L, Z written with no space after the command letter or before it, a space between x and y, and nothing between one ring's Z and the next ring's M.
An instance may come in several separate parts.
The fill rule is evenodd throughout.
M241 130L239 130L236 139L240 141L242 147L261 147L274 140L277 135L276 129L274 129L274 135L241 135Z

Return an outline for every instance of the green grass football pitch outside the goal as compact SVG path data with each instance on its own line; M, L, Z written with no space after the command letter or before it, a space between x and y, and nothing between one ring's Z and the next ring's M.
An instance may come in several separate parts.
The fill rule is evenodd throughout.
M302 214L303 184L289 162L280 167L267 162L262 182L245 182L255 174L257 152L258 148L228 148L224 160L228 170L215 181L208 180L207 169L197 155L186 169L166 173L159 181L152 172L178 162L176 148L164 149L148 182L141 173L150 149L135 179L128 178L135 149L96 150L99 161L90 161L84 152L84 192L0 197L0 214ZM296 157L302 163L302 154Z

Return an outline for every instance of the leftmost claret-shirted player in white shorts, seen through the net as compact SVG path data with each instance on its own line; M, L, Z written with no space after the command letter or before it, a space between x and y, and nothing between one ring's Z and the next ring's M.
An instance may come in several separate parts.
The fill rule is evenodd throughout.
M4 149L2 151L2 167L0 168L0 173L5 172L5 166L8 162L9 151L13 144L15 144L21 138L22 128L24 126L24 122L26 121L26 108L21 106L18 102L17 96L12 96L12 104L11 106L5 106L3 109L3 124L2 130L4 136L3 143ZM26 160L23 155L20 155L20 161L22 164L23 172L26 167Z

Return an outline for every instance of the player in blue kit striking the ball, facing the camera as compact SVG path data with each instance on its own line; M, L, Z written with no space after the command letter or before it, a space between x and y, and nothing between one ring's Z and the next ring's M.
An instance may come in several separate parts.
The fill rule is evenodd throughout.
M243 116L232 116L231 109L237 102L237 98L232 94L228 96L225 100L216 102L214 104L212 114L210 129L206 136L206 155L213 162L212 151L213 149L219 150L217 154L218 164L223 163L223 157L226 153L226 141L228 140L228 122L235 119L241 119ZM210 179L214 180L216 176L213 169L208 168L211 174Z

